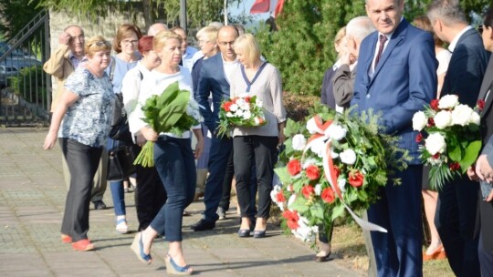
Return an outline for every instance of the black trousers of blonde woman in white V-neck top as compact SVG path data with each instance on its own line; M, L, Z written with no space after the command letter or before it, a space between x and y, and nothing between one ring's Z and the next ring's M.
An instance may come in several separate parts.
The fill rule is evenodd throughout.
M255 161L258 185L258 212L257 217L269 217L270 191L274 175L274 163L278 137L239 136L233 139L235 157L236 194L240 206L241 217L251 215L252 195L251 183L252 162Z

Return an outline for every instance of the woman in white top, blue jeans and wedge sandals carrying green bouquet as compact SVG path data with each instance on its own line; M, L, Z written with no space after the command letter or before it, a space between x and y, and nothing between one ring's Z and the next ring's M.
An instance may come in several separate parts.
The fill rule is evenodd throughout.
M132 133L140 132L144 139L155 141L154 164L163 181L168 200L152 220L149 227L135 236L131 250L142 262L151 263L152 241L158 234L165 234L169 241L169 251L165 258L166 271L169 274L190 275L193 269L187 265L182 249L182 215L184 209L194 200L195 163L194 158L200 156L204 148L204 139L200 125L195 126L194 135L197 145L194 152L191 148L191 133L182 135L173 133L157 134L142 118L142 105L152 95L161 95L163 90L178 82L180 89L193 91L190 72L180 67L182 59L182 37L169 31L162 31L153 38L153 49L161 57L161 65L152 70L149 77L142 81L141 93L135 110L138 122L131 122ZM191 93L193 97L193 93Z

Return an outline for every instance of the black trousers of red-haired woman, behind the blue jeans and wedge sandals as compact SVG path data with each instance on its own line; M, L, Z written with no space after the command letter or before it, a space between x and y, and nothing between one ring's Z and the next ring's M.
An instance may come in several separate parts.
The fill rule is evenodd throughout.
M135 157L137 157L142 148L133 145L133 150ZM135 210L137 210L137 220L139 221L138 230L142 231L151 224L168 197L155 167L144 168L137 165L135 168L137 180L137 188L134 192Z

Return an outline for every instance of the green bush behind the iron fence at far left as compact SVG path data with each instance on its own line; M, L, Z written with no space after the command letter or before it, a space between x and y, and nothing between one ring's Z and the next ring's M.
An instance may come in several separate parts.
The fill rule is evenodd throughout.
M24 67L15 77L9 77L14 93L30 103L47 103L47 87L44 86L43 66Z

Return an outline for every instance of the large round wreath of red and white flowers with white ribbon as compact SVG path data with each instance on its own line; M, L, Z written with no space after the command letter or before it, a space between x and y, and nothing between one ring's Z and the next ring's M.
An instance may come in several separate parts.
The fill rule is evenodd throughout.
M389 181L400 184L392 173L406 167L407 153L395 147L396 138L378 132L377 115L316 109L305 122L288 119L286 149L275 169L282 186L272 190L273 202L303 241L328 231L344 210L363 228L385 231L352 210L367 209Z

